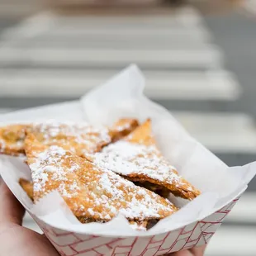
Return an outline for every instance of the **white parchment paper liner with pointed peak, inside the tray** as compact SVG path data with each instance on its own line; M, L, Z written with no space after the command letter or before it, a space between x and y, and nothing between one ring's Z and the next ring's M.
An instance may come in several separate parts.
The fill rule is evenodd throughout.
M118 237L157 235L210 216L244 192L249 181L254 178L256 163L234 168L226 166L188 135L164 107L149 101L143 95L144 87L145 78L135 65L131 65L89 92L79 102L64 102L13 112L0 116L0 122L4 125L56 119L111 125L120 117L136 117L140 121L151 118L159 148L171 164L178 168L178 172L201 190L201 196L146 232L132 230L121 215L107 224L83 225L73 216L58 192L50 193L33 205L18 184L19 178L30 178L29 168L21 159L1 155L2 178L27 211L48 225L80 234ZM178 205L183 205L183 200L175 200Z

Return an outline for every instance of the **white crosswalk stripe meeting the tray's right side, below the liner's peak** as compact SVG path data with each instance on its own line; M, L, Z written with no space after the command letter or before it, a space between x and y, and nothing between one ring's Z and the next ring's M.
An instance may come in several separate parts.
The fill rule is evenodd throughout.
M256 153L253 118L239 113L173 112L198 141L217 153ZM246 132L244 132L246 130Z

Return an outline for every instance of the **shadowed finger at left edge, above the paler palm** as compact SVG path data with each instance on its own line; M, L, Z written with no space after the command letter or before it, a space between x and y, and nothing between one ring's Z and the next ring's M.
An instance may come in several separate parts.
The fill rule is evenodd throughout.
M0 223L11 222L21 225L24 214L25 209L0 178Z

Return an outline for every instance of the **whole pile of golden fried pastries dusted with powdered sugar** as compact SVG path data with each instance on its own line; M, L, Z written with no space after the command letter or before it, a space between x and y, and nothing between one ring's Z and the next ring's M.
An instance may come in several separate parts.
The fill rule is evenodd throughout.
M156 146L151 122L121 119L111 127L55 121L0 128L0 152L26 155L33 201L57 190L82 223L121 213L138 230L178 211L167 195L200 192L178 175Z

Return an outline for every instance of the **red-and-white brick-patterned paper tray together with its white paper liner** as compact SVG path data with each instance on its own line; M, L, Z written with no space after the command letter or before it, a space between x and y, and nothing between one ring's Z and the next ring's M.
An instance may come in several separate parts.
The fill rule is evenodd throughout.
M207 244L225 216L235 206L256 173L256 163L229 168L178 124L167 110L143 95L145 78L132 65L82 97L0 116L1 125L55 119L111 125L119 117L152 119L154 136L178 172L201 190L201 196L184 204L173 216L148 231L133 230L123 216L107 224L81 224L57 192L36 205L18 184L30 178L20 159L1 155L0 173L21 204L36 220L50 242L65 256L153 256Z

